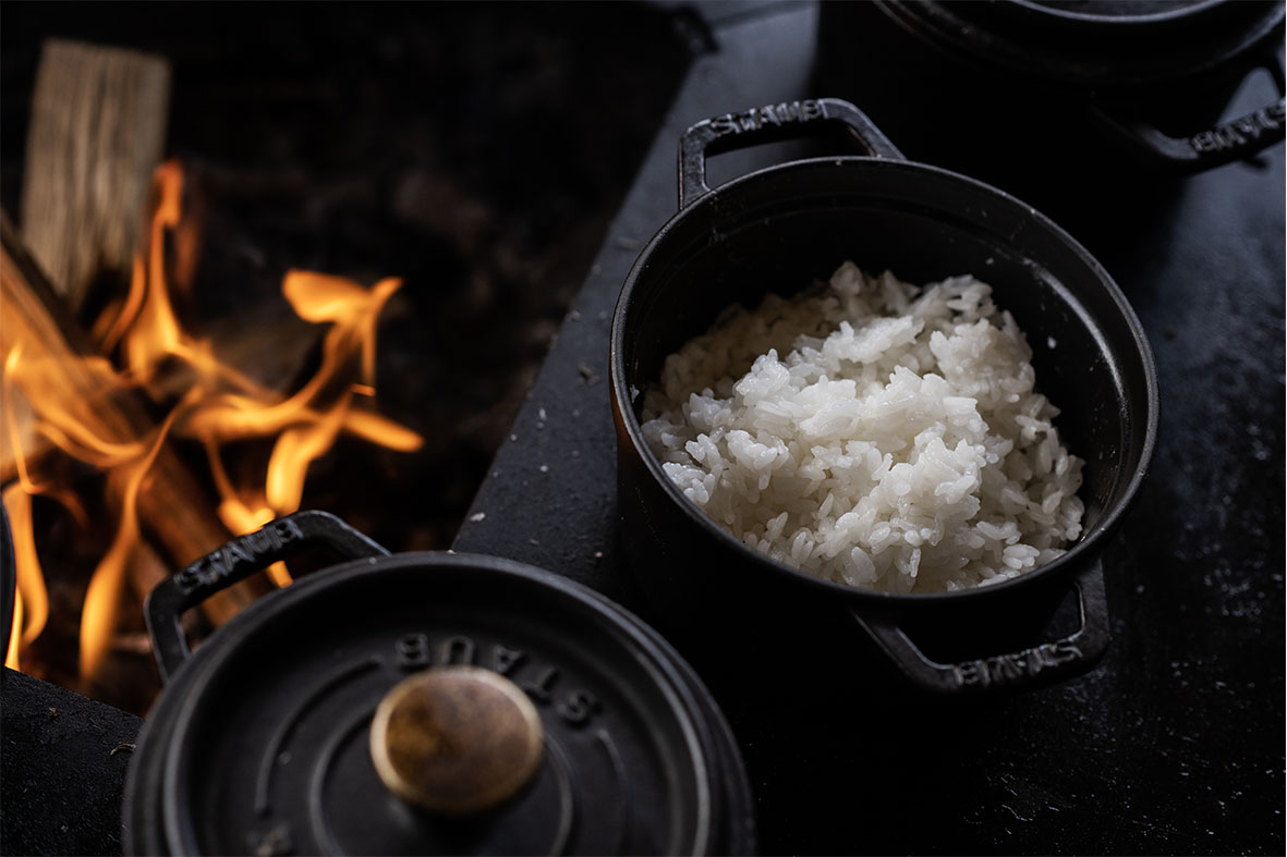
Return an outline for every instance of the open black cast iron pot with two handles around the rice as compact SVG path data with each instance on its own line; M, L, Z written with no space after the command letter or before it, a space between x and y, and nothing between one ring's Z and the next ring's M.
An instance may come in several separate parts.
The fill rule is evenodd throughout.
M793 161L710 190L705 157L770 138L846 127L869 157ZM1099 553L1144 479L1157 431L1157 380L1139 322L1108 274L1071 237L1018 199L902 160L852 104L835 99L699 122L681 142L680 212L625 279L611 333L622 538L659 620L682 634L727 620L726 645L777 634L797 659L811 636L851 613L898 670L942 692L1022 687L1089 669L1108 645ZM1018 579L946 594L888 594L820 580L746 547L691 504L644 440L642 391L667 355L734 302L804 288L844 260L927 283L973 273L994 287L1033 349L1039 386L1062 413L1060 436L1086 461L1080 540ZM1040 634L1069 589L1080 627ZM710 642L709 640L707 642Z

